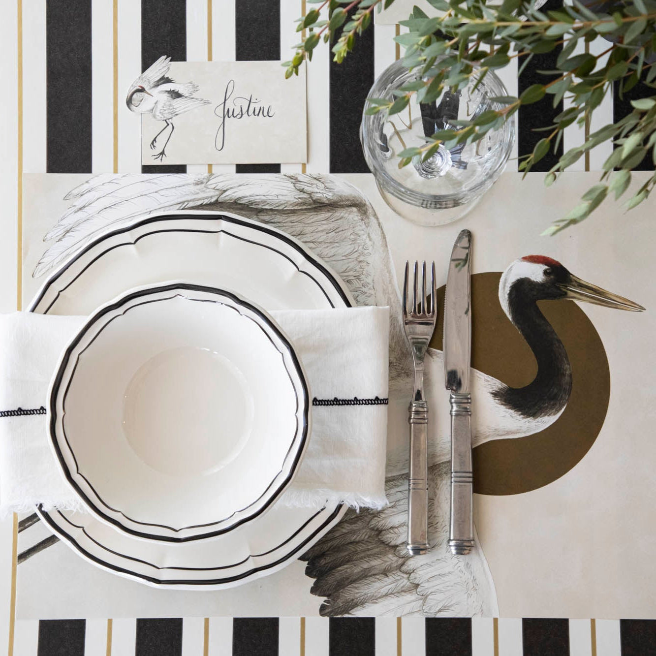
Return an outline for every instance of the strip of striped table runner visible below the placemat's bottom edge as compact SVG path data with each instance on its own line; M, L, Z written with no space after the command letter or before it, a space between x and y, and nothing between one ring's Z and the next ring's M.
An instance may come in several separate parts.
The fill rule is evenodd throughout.
M649 656L656 621L194 617L16 622L17 656Z

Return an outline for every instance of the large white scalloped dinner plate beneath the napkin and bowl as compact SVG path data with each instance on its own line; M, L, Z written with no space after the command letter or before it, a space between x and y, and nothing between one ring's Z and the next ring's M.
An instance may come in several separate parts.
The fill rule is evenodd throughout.
M232 289L266 310L344 308L336 274L293 237L253 220L188 211L148 216L87 245L43 284L30 310L91 314L138 285L186 279ZM273 504L213 538L170 543L122 533L91 514L45 512L44 522L90 562L171 588L226 588L285 567L346 512Z

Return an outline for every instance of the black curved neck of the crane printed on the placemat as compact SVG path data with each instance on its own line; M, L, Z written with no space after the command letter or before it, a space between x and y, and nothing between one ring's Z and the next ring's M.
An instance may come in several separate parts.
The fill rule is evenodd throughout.
M510 319L533 351L537 375L522 388L503 386L495 398L509 409L535 418L557 415L567 405L572 388L572 373L563 342L544 318L535 298L513 285L508 293Z

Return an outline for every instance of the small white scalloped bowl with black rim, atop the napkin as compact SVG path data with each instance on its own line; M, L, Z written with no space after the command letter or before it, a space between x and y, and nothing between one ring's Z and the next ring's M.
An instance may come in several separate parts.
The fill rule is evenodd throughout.
M64 349L52 447L87 508L133 535L225 533L291 481L310 421L293 346L261 308L184 282L105 304Z

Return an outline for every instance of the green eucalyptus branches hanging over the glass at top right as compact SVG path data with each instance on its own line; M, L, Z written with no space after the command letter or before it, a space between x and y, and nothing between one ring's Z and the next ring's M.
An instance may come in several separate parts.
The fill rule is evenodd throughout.
M389 7L394 0L308 0L319 5L298 19L298 31L308 29L306 38L296 47L293 60L285 62L285 75L298 74L298 68L311 59L321 37L331 41L337 62L354 49L356 37L371 25L375 8ZM393 116L409 108L411 100L422 104L438 102L445 91L458 92L473 83L478 85L490 71L507 66L513 58L522 58L520 72L534 55L561 47L556 67L543 72L552 75L543 83L531 85L518 97L491 98L491 109L472 121L453 121L453 129L441 130L426 138L418 148L404 148L399 154L403 167L413 157L432 157L441 145L453 148L470 144L499 129L520 107L552 96L554 108L565 99L567 107L544 130L533 152L522 154L520 170L529 173L552 149L556 150L565 128L573 123L590 124L605 94L617 85L619 94L630 91L642 81L646 97L632 101L630 115L589 134L584 143L563 154L546 174L545 184L553 184L558 175L577 159L605 141L613 144L613 153L604 163L599 184L583 195L581 203L564 218L554 222L547 234L555 234L580 222L604 201L625 194L630 171L642 158L651 155L656 164L656 0L611 0L611 3L583 5L580 0L557 10L541 12L539 0L428 0L436 15L428 16L415 7L401 25L407 31L395 37L405 49L403 64L417 75L401 87L396 96L370 98L367 113ZM594 7L594 9L593 9ZM600 54L590 54L583 43L604 38L611 45ZM511 49L513 52L511 52ZM632 195L627 207L635 207L656 186L656 174Z

